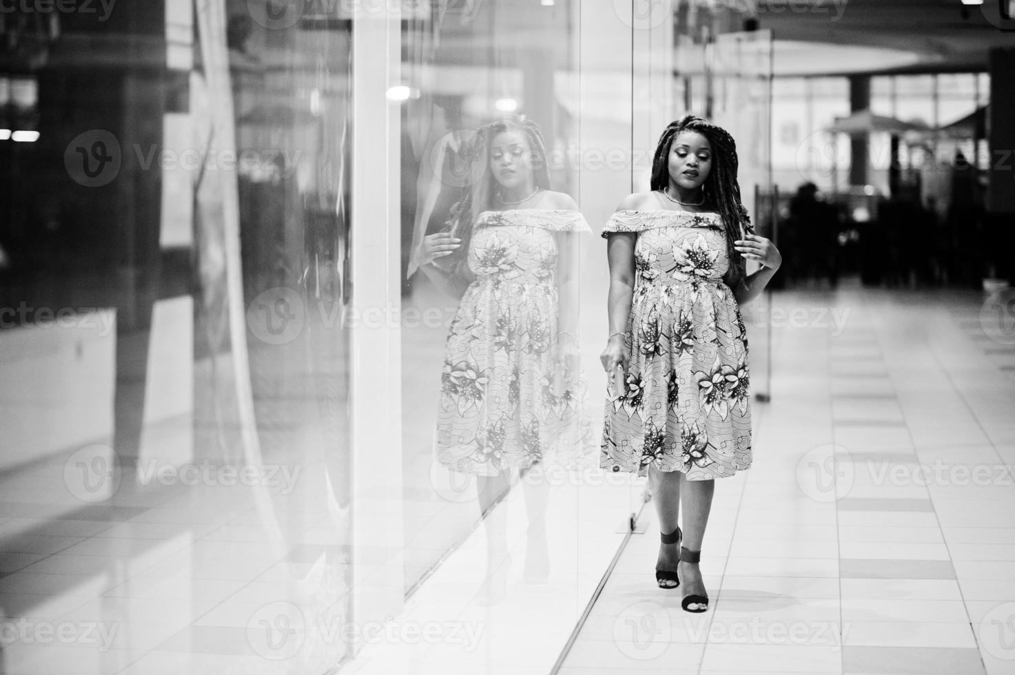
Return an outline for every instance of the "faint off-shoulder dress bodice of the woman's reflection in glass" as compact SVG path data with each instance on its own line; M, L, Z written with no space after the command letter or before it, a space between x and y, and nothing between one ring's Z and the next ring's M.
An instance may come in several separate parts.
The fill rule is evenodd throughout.
M556 278L554 232L591 231L570 209L483 211L469 243L469 269L478 280L552 284Z

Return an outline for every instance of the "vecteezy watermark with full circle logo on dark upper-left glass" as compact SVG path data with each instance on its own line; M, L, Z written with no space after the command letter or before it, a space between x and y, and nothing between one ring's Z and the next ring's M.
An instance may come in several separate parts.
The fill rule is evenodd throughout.
M2 0L0 0L2 1ZM184 171L238 171L246 176L277 175L288 179L296 170L300 150L261 148L214 150L210 148L165 148L135 143L127 152L120 140L105 129L79 134L64 150L67 175L85 188L101 188L115 181L127 161L139 171L162 173Z

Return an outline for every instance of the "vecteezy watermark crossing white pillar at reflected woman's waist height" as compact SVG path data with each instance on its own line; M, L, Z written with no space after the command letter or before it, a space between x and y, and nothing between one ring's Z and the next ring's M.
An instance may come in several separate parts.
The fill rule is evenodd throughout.
M258 340L279 345L295 340L311 317L326 329L336 325L350 329L449 328L456 311L455 307L308 302L293 288L274 286L258 293L247 306L247 325Z

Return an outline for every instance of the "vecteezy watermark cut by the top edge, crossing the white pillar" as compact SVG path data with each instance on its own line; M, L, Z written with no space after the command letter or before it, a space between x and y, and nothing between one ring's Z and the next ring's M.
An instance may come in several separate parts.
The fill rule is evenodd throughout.
M402 18L457 15L462 23L476 18L482 0L247 0L247 11L269 30L291 28L300 19L350 19L363 14Z

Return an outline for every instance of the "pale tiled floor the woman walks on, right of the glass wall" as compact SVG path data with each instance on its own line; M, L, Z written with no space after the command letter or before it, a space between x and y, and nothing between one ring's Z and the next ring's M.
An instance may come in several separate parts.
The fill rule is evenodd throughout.
M982 305L779 294L773 317L848 320L773 330L754 466L702 546L710 611L653 588L649 504L560 672L1015 673L1015 348Z

